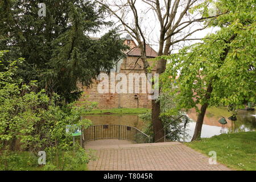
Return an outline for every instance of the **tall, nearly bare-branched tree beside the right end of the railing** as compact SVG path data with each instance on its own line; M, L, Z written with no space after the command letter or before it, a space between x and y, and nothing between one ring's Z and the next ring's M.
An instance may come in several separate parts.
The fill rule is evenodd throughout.
M98 0L97 2L106 5L110 14L115 16L122 24L124 30L130 34L138 43L141 50L141 56L138 60L143 63L145 73L151 73L152 68L147 60L147 44L157 43L158 56L170 55L174 49L180 47L180 43L186 41L198 40L191 38L191 35L197 31L207 28L212 18L220 14L209 15L208 5L213 0ZM226 11L224 11L226 13ZM155 16L152 16L154 14ZM128 19L127 17L133 17ZM147 21L147 19L149 21ZM199 22L207 23L203 27L195 26ZM153 25L152 22L154 22ZM158 39L152 40L150 32L158 29ZM149 33L149 34L148 34ZM155 35L153 35L155 36ZM151 40L148 40L150 38ZM137 60L137 61L138 61ZM137 63L136 61L136 63ZM134 63L134 64L136 64ZM166 70L167 60L158 59L154 65L155 73L162 74ZM154 85L154 84L153 84ZM159 85L159 93L161 93ZM151 121L154 129L154 140L163 138L164 121L160 118L160 101L152 100Z

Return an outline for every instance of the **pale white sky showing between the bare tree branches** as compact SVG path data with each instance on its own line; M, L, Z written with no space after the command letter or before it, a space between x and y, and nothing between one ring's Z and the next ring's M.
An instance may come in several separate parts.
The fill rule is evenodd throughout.
M117 0L108 0L108 3L110 3L110 5L113 5L113 3L120 4L125 1L126 0L118 0L118 1ZM163 1L164 0L162 0L160 2L163 3ZM186 1L188 1L188 0L181 0L181 2L186 2ZM162 5L164 5L164 3ZM137 10L138 10L139 18L141 21L141 27L142 27L144 34L146 35L147 43L153 49L155 49L155 51L158 51L158 40L159 40L160 26L159 26L158 20L156 20L156 16L155 16L154 12L152 11L152 8L149 5L147 5L146 3L144 3L142 0L137 0L135 3L135 6L137 7ZM112 6L112 9L116 9L116 7ZM122 10L124 10L124 9L122 9ZM182 7L180 7L180 9L178 9L178 13L181 10L182 10ZM119 13L119 11L117 13ZM198 15L198 14L193 14L193 15L196 15L196 18L200 17L200 15ZM187 19L186 18L187 18L187 16L185 16L184 20L188 19L188 18ZM115 18L114 16L107 16L106 20L112 20L114 22L114 26L109 27L109 28L104 28L101 30L101 32L98 32L97 34L90 34L90 36L100 37L100 36L104 35L106 32L108 32L108 30L110 30L111 28L121 25L121 23L118 21L118 19ZM127 13L126 22L130 23L130 25L132 26L132 23L133 23L133 15L132 14ZM120 27L122 29L122 26L120 26ZM189 29L195 30L195 29L201 28L201 27L202 27L202 25L200 23L193 24L193 26L189 26L188 28L185 28L184 32L188 32ZM205 30L195 32L189 38L192 38L192 39L204 38L204 36L206 36L207 34L212 34L212 33L216 32L217 30L218 30L217 28L207 28ZM127 35L127 33L122 31L121 37L124 38L126 35ZM177 35L177 38L179 38L178 36L180 36L180 35ZM182 48L184 46L188 46L189 44L199 42L199 41L200 40L181 42L181 43L179 43L179 46L174 47L175 49L172 51L172 53L177 53L180 48Z

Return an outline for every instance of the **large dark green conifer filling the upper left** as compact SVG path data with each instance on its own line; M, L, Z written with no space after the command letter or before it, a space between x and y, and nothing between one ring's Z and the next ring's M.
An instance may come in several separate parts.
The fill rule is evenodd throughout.
M116 30L89 38L111 25L104 20L105 8L93 1L46 0L45 17L38 16L40 2L0 2L0 49L11 51L7 60L25 59L18 78L38 80L48 95L72 102L81 94L77 83L88 86L100 71L108 72L125 56L126 46Z

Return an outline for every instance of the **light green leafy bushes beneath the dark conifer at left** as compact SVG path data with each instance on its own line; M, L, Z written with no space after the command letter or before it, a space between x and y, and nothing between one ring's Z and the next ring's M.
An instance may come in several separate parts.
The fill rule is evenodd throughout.
M3 53L0 51L0 57ZM88 162L90 156L81 148L76 147L77 153L69 154L75 146L71 133L65 131L67 125L90 125L88 119L80 120L82 108L72 104L60 107L56 104L59 96L48 97L44 89L38 90L36 81L23 84L21 79L15 80L16 65L23 61L6 61L9 65L0 72L0 169L2 164L4 169L11 169L15 161L19 163L19 155L13 151L30 151L35 155L46 151L50 164L58 169L73 168L71 164L65 166L65 160L72 156L75 164L79 164L78 160Z

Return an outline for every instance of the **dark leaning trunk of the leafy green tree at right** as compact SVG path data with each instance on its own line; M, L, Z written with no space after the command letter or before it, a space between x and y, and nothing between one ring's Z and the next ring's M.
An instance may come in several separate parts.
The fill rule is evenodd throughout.
M196 127L195 127L195 131L194 131L194 134L193 134L193 138L191 141L193 140L197 140L197 139L200 139L201 137L201 130L202 130L202 126L203 126L203 122L204 122L204 115L205 115L205 111L207 110L207 107L208 107L208 100L210 98L210 94L212 93L212 80L209 82L209 85L207 87L207 92L205 94L205 104L203 104L201 106L201 109L200 109L200 113L197 117L197 121L196 121Z

